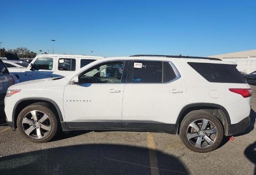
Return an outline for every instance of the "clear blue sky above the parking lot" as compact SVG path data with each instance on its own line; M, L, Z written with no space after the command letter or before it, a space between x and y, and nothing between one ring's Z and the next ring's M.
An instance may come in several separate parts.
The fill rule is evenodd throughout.
M256 49L256 1L2 0L1 47L128 56Z

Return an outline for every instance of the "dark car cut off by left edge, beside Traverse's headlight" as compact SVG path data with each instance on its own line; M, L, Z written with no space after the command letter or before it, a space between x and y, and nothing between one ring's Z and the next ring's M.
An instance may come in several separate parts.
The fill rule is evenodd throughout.
M0 108L4 107L4 98L7 88L14 84L13 81L13 77L0 59Z

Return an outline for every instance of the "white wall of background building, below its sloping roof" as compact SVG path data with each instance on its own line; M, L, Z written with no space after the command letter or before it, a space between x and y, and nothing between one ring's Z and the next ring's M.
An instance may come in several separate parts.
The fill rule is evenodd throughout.
M243 58L222 58L223 61L231 61L237 64L237 69L246 73L256 71L256 56Z

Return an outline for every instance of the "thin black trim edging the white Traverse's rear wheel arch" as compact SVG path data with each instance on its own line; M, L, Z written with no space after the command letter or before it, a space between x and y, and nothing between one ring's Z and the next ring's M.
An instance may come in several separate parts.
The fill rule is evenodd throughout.
M179 112L179 116L176 120L176 124L179 124L180 123L180 120L182 119L182 116L184 114L184 112L189 109L189 108L192 108L192 107L215 107L215 108L218 108L218 109L221 109L225 116L226 116L226 121L227 121L227 124L231 124L231 121L230 121L230 117L229 117L229 114L226 110L225 107L223 107L222 105L218 105L218 104L214 104L214 103L192 103L192 104L188 104L186 106L184 106L181 111Z

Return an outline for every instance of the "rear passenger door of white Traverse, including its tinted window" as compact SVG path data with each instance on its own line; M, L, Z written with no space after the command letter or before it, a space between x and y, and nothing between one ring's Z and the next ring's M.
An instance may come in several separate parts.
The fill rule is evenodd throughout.
M186 103L186 88L171 62L130 61L124 88L124 128L173 130Z

